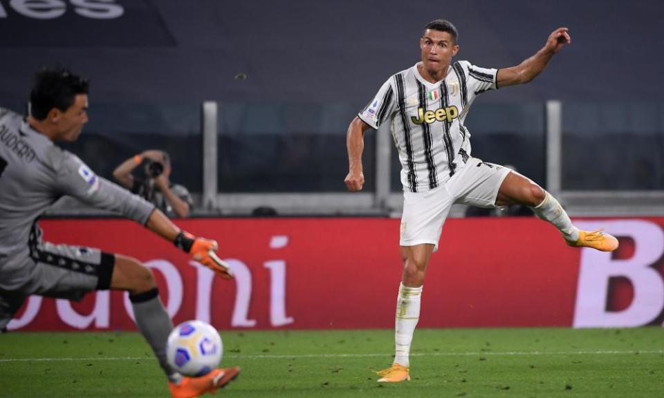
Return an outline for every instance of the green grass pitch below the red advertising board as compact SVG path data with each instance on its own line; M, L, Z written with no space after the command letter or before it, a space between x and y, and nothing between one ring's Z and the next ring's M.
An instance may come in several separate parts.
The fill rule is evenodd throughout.
M376 383L391 330L221 332L223 397L663 397L664 330L417 330L412 381ZM135 332L0 335L0 397L167 397Z

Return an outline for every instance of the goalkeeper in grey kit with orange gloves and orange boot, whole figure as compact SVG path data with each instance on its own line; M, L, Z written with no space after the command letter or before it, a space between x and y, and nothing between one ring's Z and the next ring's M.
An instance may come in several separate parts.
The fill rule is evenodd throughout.
M42 69L35 75L28 117L0 108L0 330L7 330L31 294L78 301L94 290L124 290L173 397L212 392L235 379L239 368L183 377L169 366L166 342L173 324L149 268L122 254L42 240L39 216L60 197L72 196L145 225L220 276L232 278L214 252L214 240L181 231L154 205L96 176L54 144L75 141L88 122L88 88L86 79L65 68Z

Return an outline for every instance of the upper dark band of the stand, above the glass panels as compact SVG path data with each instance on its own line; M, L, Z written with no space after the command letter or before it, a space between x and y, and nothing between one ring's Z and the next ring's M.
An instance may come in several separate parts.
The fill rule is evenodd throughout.
M46 23L9 3L0 1L3 103L24 98L35 67L54 62L93 77L95 101L362 103L414 63L422 26L439 17L459 28L459 59L481 66L512 66L570 28L573 46L537 84L485 101L663 99L656 0L116 0L124 14L105 20L64 1Z

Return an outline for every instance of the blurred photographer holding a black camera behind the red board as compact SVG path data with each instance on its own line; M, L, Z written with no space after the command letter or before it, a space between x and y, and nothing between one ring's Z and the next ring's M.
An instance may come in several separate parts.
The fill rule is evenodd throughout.
M143 165L144 178L133 175L140 165ZM187 188L169 180L171 171L169 155L164 151L150 150L122 162L113 170L113 178L132 193L154 203L170 218L185 218L192 207L192 196Z

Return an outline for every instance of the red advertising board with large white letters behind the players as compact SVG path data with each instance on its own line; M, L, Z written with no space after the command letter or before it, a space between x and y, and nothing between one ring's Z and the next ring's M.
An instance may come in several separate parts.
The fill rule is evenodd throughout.
M584 219L620 237L616 253L567 247L536 218L448 220L423 288L418 327L638 326L661 323L664 218ZM44 220L53 243L99 247L151 267L175 323L220 329L392 328L401 260L399 220L181 220L219 241L234 281L128 220ZM19 330L133 330L123 292L80 303L30 297Z

